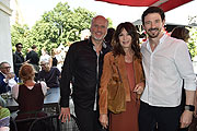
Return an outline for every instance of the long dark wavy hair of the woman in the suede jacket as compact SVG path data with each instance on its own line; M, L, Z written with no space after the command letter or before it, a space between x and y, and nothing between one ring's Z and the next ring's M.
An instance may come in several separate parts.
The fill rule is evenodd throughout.
M120 23L116 28L116 32L113 36L113 41L112 41L114 56L117 56L117 55L125 56L125 51L119 43L119 34L123 32L124 28L132 38L131 49L134 50L135 56L140 59L141 55L140 55L140 46L139 46L139 34L137 33L136 26L131 24L130 22Z

